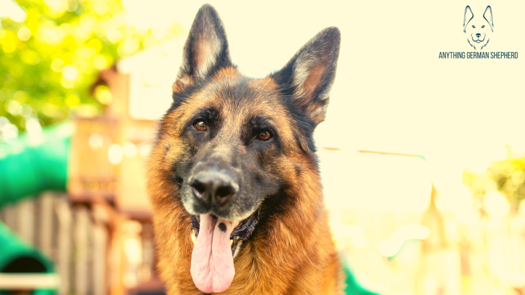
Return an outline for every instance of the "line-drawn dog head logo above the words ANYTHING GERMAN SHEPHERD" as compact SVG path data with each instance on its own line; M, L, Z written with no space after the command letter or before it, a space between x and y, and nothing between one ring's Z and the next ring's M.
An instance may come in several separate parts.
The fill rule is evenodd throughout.
M492 8L487 6L483 15L473 14L470 6L465 7L463 19L463 32L467 35L467 41L474 49L483 49L489 43L492 34Z

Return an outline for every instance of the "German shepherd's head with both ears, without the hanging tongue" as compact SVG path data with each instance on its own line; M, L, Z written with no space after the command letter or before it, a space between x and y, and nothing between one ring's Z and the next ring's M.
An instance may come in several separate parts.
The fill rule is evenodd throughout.
M244 219L285 182L288 175L276 170L291 154L313 156L312 132L328 107L339 39L337 28L324 29L283 69L250 79L232 64L215 9L199 9L163 120L176 142L168 153L176 154L173 173L189 213Z

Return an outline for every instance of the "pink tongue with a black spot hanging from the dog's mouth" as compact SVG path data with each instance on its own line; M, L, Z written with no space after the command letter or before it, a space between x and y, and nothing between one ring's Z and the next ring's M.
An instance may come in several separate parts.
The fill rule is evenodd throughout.
M237 224L209 214L201 215L190 272L195 286L204 293L222 292L232 283L235 268L229 236Z

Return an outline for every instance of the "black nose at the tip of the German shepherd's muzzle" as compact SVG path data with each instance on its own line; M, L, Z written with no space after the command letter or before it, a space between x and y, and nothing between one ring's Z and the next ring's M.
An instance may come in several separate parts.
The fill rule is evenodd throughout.
M232 199L239 185L226 174L201 172L191 181L193 195L206 205L222 205Z

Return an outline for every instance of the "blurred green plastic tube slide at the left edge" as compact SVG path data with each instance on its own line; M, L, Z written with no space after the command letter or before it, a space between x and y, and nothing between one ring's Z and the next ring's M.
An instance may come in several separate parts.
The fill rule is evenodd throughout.
M72 122L67 122L45 128L38 136L25 134L9 144L0 143L0 208L46 189L66 190L72 130ZM0 222L0 273L55 273L55 265ZM0 295L11 291L0 289Z

